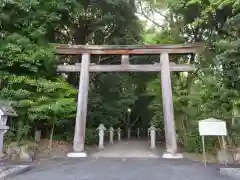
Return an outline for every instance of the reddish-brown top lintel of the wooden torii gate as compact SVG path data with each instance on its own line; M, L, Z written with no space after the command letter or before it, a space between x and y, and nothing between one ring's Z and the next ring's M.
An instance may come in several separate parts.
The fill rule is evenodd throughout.
M187 54L201 53L203 43L177 45L69 45L54 44L60 55L88 54Z

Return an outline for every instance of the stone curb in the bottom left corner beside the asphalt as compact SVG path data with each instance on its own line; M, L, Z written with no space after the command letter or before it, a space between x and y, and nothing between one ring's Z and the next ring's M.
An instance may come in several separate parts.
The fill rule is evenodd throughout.
M0 179L5 180L18 174L29 171L32 168L30 165L5 165L0 166Z

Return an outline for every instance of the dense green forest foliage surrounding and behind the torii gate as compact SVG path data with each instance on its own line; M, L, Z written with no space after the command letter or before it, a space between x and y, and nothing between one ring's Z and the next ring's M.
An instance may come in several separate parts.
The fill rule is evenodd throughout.
M206 52L198 59L192 54L171 55L175 63L191 62L200 67L197 72L172 74L179 144L188 151L200 152L197 122L215 117L227 121L229 138L233 145L238 145L239 125L232 124L232 119L237 119L240 112L239 0L146 0L145 4L137 1L142 16L154 24L151 28L139 21L132 2L4 0L0 3L0 98L12 101L19 115L9 122L9 138L31 139L35 128L39 128L44 137L49 137L52 131L55 139L72 140L79 77L77 73L61 76L56 66L62 62L74 64L78 59L60 59L51 43L206 41ZM162 22L153 18L156 14ZM118 58L92 56L91 62L117 64ZM159 56L131 56L134 64L156 61ZM155 74L91 74L86 143L96 143L96 128L100 123L114 128L153 123L164 132L160 87ZM220 146L216 138L209 138L208 143L209 151Z

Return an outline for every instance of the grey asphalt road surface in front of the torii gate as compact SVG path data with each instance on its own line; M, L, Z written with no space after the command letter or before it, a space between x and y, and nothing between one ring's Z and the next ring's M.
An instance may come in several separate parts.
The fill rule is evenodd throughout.
M231 180L215 167L188 160L140 158L72 159L35 168L12 180Z

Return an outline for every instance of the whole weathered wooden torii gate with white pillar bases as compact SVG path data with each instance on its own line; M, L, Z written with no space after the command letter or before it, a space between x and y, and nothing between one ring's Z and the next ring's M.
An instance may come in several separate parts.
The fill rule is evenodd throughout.
M162 100L164 111L164 126L166 153L163 158L182 158L177 153L177 140L174 123L172 101L171 71L195 71L190 64L174 64L169 61L169 54L198 53L201 44L180 45L56 45L59 55L81 55L81 64L59 65L59 72L80 72L77 115L73 140L73 153L70 157L85 157L84 140L87 115L89 72L161 72ZM97 65L90 63L90 56L122 55L119 65ZM134 65L129 62L129 55L159 54L160 63Z

